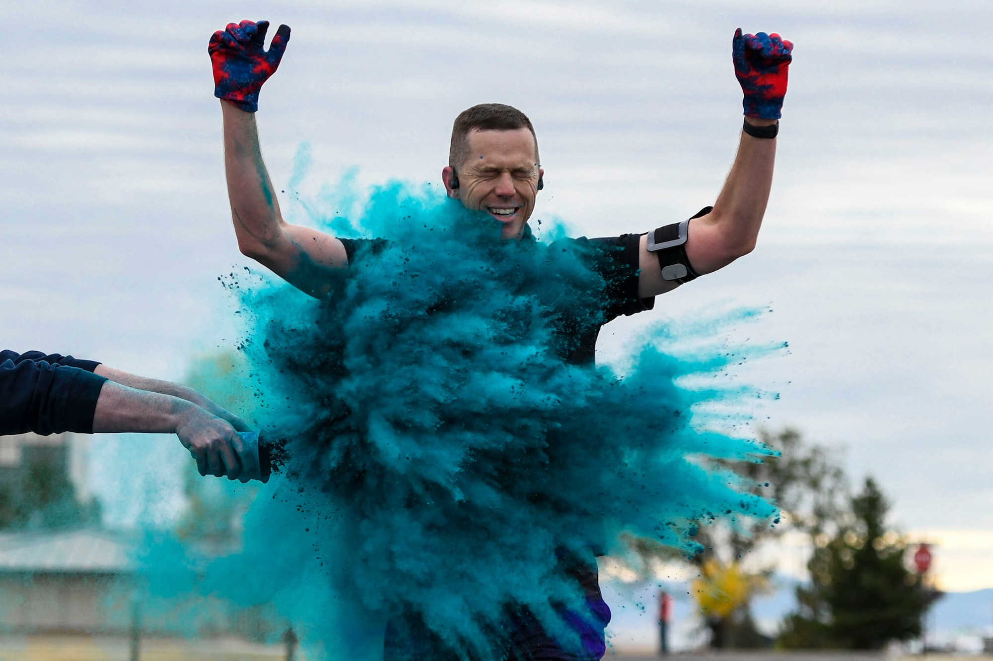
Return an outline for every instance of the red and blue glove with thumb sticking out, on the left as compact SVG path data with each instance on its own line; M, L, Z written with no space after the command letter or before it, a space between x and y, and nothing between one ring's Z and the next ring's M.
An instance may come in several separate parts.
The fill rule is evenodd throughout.
M276 72L283 59L290 27L279 26L269 50L265 50L268 21L228 23L211 37L207 52L213 65L213 95L230 101L246 112L258 110L262 83Z

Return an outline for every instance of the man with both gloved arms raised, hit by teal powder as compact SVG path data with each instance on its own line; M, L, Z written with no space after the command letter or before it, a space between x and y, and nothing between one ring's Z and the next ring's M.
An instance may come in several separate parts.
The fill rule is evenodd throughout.
M234 232L241 252L318 299L328 296L335 274L356 258L363 241L338 238L283 220L262 161L254 113L258 93L282 59L290 38L280 26L268 50L269 24L242 21L214 33L210 42L215 82L221 99L224 167ZM779 35L735 33L732 56L744 91L745 122L734 165L713 206L681 222L641 233L600 239L574 239L603 246L609 283L604 319L651 310L654 297L698 276L713 273L751 252L769 201L776 158L780 109L786 91L792 44ZM527 221L543 188L544 170L531 121L499 103L473 106L456 117L448 165L441 179L449 198L468 209L489 213L507 240L533 241ZM605 322L606 323L606 322ZM571 327L563 357L592 363L601 326ZM506 658L527 660L600 659L610 609L603 601L596 562L565 558L566 571L587 595L589 613L564 613L580 634L585 652L558 645L527 613L507 622ZM449 658L437 640L418 629L413 617L394 617L387 628L389 660ZM577 655L578 654L578 655Z

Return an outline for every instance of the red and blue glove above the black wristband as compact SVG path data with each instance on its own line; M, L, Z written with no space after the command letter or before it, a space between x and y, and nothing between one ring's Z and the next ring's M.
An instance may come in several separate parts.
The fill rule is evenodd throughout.
M732 42L735 75L745 92L745 115L779 119L786 77L792 62L793 45L779 35L742 35L739 28Z

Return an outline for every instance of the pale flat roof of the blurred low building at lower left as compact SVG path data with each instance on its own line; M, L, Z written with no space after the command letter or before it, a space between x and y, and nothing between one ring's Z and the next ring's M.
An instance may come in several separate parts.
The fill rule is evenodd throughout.
M0 573L126 574L134 549L130 536L105 530L0 533Z

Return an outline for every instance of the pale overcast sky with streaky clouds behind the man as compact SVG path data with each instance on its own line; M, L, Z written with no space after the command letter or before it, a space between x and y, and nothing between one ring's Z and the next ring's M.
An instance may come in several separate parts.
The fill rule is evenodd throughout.
M502 101L538 130L537 215L586 235L713 201L741 125L731 35L780 32L796 46L759 248L656 311L771 304L747 332L790 353L749 372L781 392L761 417L878 476L895 521L944 545L949 587L993 586L990 3L2 7L0 344L167 378L230 334L216 278L247 263L206 52L228 21L293 28L258 113L277 188L302 142L314 186L352 166L435 181L455 114ZM604 358L646 321L605 332Z

